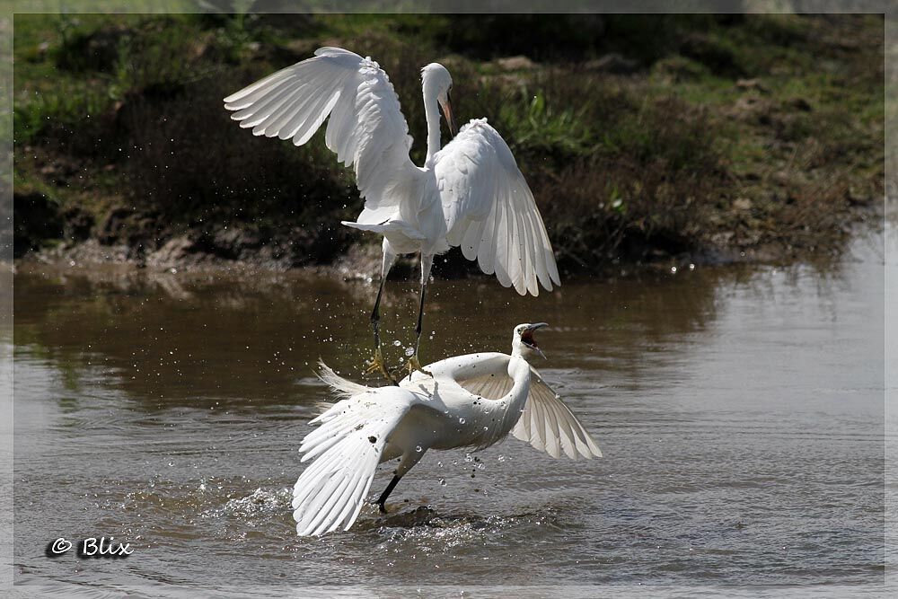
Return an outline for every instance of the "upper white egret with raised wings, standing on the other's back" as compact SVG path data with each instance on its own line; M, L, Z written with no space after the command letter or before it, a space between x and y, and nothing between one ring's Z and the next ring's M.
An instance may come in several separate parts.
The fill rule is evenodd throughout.
M454 129L444 66L421 69L427 115L427 158L409 158L412 139L389 77L370 58L342 48L320 48L315 56L288 66L225 98L225 108L253 135L292 139L303 145L330 116L325 143L337 160L354 166L365 209L344 225L383 234L380 286L371 322L374 359L381 370L378 334L383 281L399 254L421 256L421 304L415 353L407 366L419 370L418 347L424 295L434 256L461 246L468 260L521 294L559 285L555 256L533 193L505 140L486 119L471 120L440 149L443 109Z

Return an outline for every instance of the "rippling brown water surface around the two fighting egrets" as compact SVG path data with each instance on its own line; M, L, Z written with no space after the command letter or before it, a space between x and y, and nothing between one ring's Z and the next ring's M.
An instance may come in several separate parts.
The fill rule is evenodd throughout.
M318 358L359 377L372 286L22 268L14 580L296 596L881 584L882 242L816 267L681 269L537 299L487 278L436 281L422 358L507 351L516 323L550 322L537 367L604 457L553 460L515 439L430 452L391 514L365 509L351 531L319 539L295 536L296 450L328 399ZM411 284L390 282L392 361L416 302ZM44 554L57 537L100 535L134 553Z

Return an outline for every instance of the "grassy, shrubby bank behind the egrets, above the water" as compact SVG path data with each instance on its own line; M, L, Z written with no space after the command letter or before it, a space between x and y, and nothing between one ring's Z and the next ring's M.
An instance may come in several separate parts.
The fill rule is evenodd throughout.
M448 66L457 119L506 138L568 271L834 251L882 192L876 15L17 14L17 253L96 238L142 260L186 235L339 256L352 172L321 136L251 137L221 104L325 44L391 75L418 163L418 69Z

